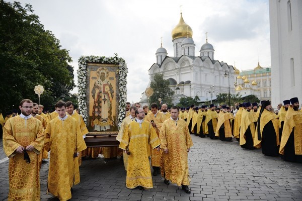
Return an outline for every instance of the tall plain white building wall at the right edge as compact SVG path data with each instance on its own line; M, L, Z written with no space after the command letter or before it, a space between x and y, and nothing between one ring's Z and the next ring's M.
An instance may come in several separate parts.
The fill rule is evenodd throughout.
M302 103L302 1L270 0L272 105Z

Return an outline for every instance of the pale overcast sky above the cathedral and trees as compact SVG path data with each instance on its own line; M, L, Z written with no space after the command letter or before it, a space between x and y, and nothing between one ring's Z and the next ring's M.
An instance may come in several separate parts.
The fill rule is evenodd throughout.
M12 1L10 1L12 2ZM215 49L214 59L239 70L259 62L270 66L269 9L267 0L22 0L31 4L46 30L69 50L77 83L81 55L114 56L128 66L128 101L138 102L149 81L147 70L161 46L173 56L171 31L180 19L193 30L195 56L205 43ZM73 92L77 92L77 88Z

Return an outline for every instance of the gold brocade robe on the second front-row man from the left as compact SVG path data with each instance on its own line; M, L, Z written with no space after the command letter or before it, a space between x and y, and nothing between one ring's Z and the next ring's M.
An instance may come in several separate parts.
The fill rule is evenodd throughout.
M60 200L71 198L70 188L80 182L78 159L75 152L86 149L80 126L70 116L62 121L51 120L45 130L45 148L50 150L48 190Z

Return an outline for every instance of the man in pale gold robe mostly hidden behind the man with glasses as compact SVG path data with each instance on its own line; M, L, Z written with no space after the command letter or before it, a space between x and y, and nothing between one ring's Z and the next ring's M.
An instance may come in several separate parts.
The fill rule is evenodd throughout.
M126 117L125 119L123 119L123 122L122 122L122 125L121 125L121 128L120 130L118 131L118 134L116 136L116 140L121 142L122 139L123 139L123 134L124 134L124 131L127 127L127 125L132 122L133 120L135 120L135 110L136 110L136 107L135 106L131 106L130 107L130 115L128 117ZM145 111L144 111L145 112ZM149 149L148 149L149 150ZM148 153L149 155L149 153ZM128 154L126 154L125 152L123 152L123 161L124 161L124 167L125 167L125 170L127 171L127 165L128 165Z

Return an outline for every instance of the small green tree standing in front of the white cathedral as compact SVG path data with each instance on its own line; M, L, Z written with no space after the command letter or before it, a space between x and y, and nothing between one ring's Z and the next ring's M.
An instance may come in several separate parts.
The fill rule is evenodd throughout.
M157 103L159 105L159 98L162 98L163 103L172 105L172 96L174 91L169 87L169 80L164 79L164 75L156 73L150 83L153 88L153 95L150 96L149 103Z

